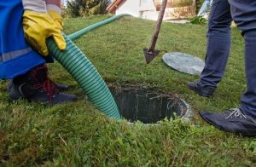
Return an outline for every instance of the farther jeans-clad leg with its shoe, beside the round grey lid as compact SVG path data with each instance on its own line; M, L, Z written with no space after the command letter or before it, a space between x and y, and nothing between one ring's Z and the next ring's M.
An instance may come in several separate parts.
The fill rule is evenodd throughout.
M230 3L213 0L207 30L207 54L201 80L189 83L189 89L199 95L212 96L224 76L230 55Z

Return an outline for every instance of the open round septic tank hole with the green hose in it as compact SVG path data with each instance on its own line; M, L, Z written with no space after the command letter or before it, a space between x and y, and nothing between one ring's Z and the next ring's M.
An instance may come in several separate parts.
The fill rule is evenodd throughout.
M109 88L122 118L156 124L165 118L191 117L189 105L176 95L134 87Z

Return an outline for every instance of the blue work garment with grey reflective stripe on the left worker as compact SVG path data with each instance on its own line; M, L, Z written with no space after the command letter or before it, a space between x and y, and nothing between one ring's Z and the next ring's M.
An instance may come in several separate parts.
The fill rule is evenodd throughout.
M0 78L10 79L45 63L24 37L21 0L0 1Z

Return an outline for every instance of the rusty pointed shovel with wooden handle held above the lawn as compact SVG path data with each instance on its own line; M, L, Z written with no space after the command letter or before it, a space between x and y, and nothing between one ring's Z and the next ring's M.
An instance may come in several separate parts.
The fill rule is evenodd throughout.
M155 50L154 47L155 47L155 43L156 43L157 38L158 38L158 34L160 32L161 23L162 23L164 14L165 14L166 3L167 3L167 0L162 1L161 8L160 8L160 13L158 14L158 19L157 19L157 22L156 22L156 26L154 28L154 34L153 34L153 37L151 39L149 49L143 49L147 64L151 60L153 60L156 55L158 55L160 53L160 51Z

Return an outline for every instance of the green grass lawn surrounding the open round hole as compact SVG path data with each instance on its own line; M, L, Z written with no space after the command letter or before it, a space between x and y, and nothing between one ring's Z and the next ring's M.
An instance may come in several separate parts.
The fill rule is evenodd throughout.
M66 34L79 31L108 15L65 20ZM71 85L79 101L44 107L10 103L0 86L0 166L256 166L256 139L224 133L198 116L201 110L221 112L237 107L246 89L243 40L232 28L232 46L225 76L213 98L187 89L198 76L167 67L161 56L179 51L204 59L207 26L163 23L156 49L160 55L146 65L155 22L124 17L79 37L79 46L108 84L137 84L162 89L187 101L195 113L191 123L162 121L157 126L127 124L106 118L57 62L51 78Z

